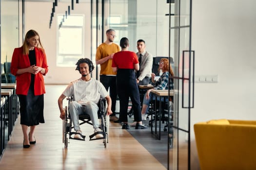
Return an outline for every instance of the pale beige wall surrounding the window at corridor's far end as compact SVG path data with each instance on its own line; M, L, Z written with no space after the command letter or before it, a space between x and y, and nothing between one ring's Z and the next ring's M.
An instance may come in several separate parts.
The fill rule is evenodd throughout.
M51 28L49 29L50 16L52 12L52 2L25 2L25 32L30 29L36 30L40 35L40 40L46 52L49 72L44 76L45 84L67 84L78 77L80 74L75 71L76 65L71 67L56 67L57 54L57 14L65 15L70 5L70 14L85 15L85 56L91 57L91 4L74 4L71 10L70 3L58 3Z

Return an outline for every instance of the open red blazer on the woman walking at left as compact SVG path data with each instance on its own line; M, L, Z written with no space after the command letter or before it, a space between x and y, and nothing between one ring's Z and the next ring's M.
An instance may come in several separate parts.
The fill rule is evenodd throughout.
M22 53L23 47L14 49L10 69L11 73L16 76L16 94L27 95L31 81L31 73L26 72L23 74L17 74L18 69L30 67L28 55L23 55ZM39 72L35 75L35 95L41 95L45 93L43 75L48 72L48 65L46 55L43 49L35 47L35 53L37 61L36 66L45 69L44 74Z

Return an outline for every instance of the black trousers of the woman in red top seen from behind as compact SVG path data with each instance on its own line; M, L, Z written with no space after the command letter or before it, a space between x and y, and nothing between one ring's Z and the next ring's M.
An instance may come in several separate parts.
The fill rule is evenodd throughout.
M132 107L134 110L134 120L141 121L139 91L134 69L118 69L117 89L120 102L119 121L128 121L127 110L129 104L129 97L131 98Z

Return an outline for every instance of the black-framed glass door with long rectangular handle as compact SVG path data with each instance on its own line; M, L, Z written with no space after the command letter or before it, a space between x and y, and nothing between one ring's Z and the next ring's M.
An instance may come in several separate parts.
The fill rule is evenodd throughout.
M169 50L174 56L174 98L169 109L168 170L190 170L190 109L194 107L191 1L169 2ZM173 104L173 107L171 107Z

